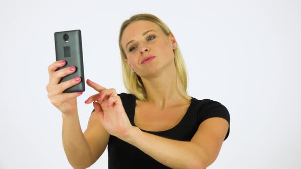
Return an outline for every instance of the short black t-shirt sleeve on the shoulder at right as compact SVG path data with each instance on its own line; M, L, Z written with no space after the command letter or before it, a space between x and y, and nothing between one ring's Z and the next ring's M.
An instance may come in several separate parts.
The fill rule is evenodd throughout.
M200 125L202 122L204 122L209 118L214 118L214 117L223 118L227 120L229 123L228 132L224 140L227 139L230 133L230 114L228 109L217 101L213 101L210 99L205 99L204 101L205 101L204 105L201 106L200 109L198 110L198 122L199 122L198 125Z

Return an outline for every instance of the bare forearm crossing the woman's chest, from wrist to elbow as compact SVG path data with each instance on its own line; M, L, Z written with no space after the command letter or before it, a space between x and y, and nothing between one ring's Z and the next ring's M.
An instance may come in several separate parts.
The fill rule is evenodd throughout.
M168 139L135 127L124 140L171 168L206 168L206 154L192 142Z

